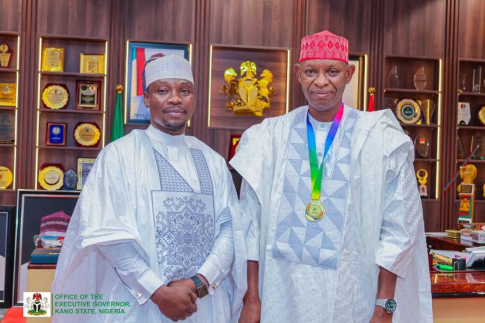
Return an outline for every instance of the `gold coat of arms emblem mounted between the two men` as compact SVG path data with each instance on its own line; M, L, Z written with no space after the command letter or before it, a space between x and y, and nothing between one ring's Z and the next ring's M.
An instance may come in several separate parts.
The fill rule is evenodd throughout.
M227 95L226 108L233 110L236 116L263 116L265 109L270 109L270 97L276 89L270 86L273 74L263 70L258 79L256 63L245 61L240 66L240 77L233 68L224 71L226 85L221 93Z

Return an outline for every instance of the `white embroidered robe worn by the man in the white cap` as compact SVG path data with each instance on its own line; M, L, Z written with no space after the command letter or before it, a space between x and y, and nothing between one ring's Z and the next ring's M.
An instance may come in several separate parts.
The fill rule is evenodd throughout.
M213 273L210 295L197 300L197 313L184 322L236 322L249 226L237 207L224 159L192 136L150 126L107 145L72 214L52 292L103 294L102 301L131 306L125 315L54 315L53 322L171 322L100 252L122 242L131 242L155 273L147 283L190 278L199 268Z

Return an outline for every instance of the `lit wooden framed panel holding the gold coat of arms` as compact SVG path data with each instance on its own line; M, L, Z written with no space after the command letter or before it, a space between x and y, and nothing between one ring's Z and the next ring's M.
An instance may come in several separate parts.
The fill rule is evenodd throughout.
M245 129L288 112L290 50L210 46L208 127Z

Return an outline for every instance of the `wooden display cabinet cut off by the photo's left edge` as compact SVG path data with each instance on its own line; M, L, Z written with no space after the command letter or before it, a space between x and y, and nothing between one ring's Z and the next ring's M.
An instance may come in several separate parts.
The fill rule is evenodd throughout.
M1 191L15 191L17 179L17 123L19 109L19 58L20 58L20 35L17 33L0 33L0 42L5 42L10 47L10 62L5 68L0 67L0 83L13 83L16 86L16 98L14 106L2 106L0 115L8 114L8 118L14 120L13 143L0 143L0 166L6 166L13 173L13 182L7 189Z

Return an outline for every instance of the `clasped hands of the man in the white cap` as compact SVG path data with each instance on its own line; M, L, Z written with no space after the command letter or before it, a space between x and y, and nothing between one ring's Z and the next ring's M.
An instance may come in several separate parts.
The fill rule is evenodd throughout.
M162 285L153 293L151 300L174 322L185 320L197 312L197 295L189 287Z

